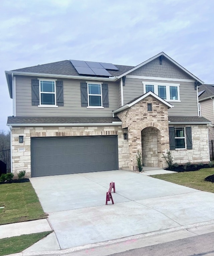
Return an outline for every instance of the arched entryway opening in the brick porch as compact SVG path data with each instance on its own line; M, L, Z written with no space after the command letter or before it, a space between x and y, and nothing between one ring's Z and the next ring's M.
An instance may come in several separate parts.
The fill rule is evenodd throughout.
M160 167L160 130L146 127L141 131L142 160L144 166Z

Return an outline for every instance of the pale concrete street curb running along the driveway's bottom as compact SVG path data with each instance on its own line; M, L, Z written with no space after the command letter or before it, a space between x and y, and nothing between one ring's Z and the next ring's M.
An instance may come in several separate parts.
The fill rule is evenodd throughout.
M39 251L39 252L20 252L20 253L15 253L15 254L9 254L7 256L33 256L33 255L57 256L57 255L61 255L61 254L77 252L77 251L91 249L91 248L95 248L95 247L112 245L112 244L116 244L119 242L126 242L126 241L133 240L133 239L140 239L140 238L147 238L147 237L152 237L152 236L157 236L157 235L163 235L163 234L167 234L167 233L171 233L171 232L175 232L175 231L181 231L181 230L192 228L192 227L200 227L200 226L206 226L206 225L210 225L210 224L214 224L214 220L199 222L199 223L194 223L194 224L188 224L188 225L183 225L183 226L179 226L179 227L168 228L168 229L164 229L162 231L153 231L153 232L149 232L149 233L143 233L143 234L139 234L139 235L109 240L109 241L105 241L105 242L87 244L87 245L72 247L72 248L68 248L68 249L53 250L53 251Z

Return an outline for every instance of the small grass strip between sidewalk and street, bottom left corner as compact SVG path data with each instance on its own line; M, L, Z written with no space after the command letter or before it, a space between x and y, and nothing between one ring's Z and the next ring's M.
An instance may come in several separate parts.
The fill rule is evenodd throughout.
M21 252L52 231L0 239L0 256Z

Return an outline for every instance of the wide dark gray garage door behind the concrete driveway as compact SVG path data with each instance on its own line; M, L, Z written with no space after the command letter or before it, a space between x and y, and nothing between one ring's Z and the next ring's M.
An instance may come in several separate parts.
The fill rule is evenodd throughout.
M31 138L32 177L117 169L117 136Z

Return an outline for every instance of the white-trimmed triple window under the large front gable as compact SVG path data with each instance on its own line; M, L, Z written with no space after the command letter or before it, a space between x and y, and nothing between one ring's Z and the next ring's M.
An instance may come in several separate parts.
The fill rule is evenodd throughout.
M143 83L145 93L151 91L166 101L180 101L180 84L169 83Z

